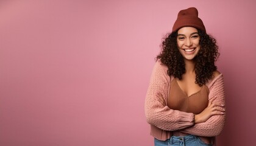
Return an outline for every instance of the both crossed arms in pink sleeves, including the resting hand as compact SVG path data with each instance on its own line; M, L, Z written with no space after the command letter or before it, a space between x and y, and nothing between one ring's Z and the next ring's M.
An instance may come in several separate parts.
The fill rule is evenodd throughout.
M166 106L169 76L167 69L156 63L145 101L148 123L166 131L180 130L197 136L217 136L224 126L224 83L222 74L210 89L209 104L200 114L185 113Z

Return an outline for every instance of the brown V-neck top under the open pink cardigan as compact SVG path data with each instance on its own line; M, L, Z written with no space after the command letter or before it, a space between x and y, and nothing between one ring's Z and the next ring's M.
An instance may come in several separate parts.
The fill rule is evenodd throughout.
M199 91L191 96L187 96L178 85L176 78L174 78L171 82L168 106L171 109L199 114L204 111L208 105L209 92L208 87L203 85Z

